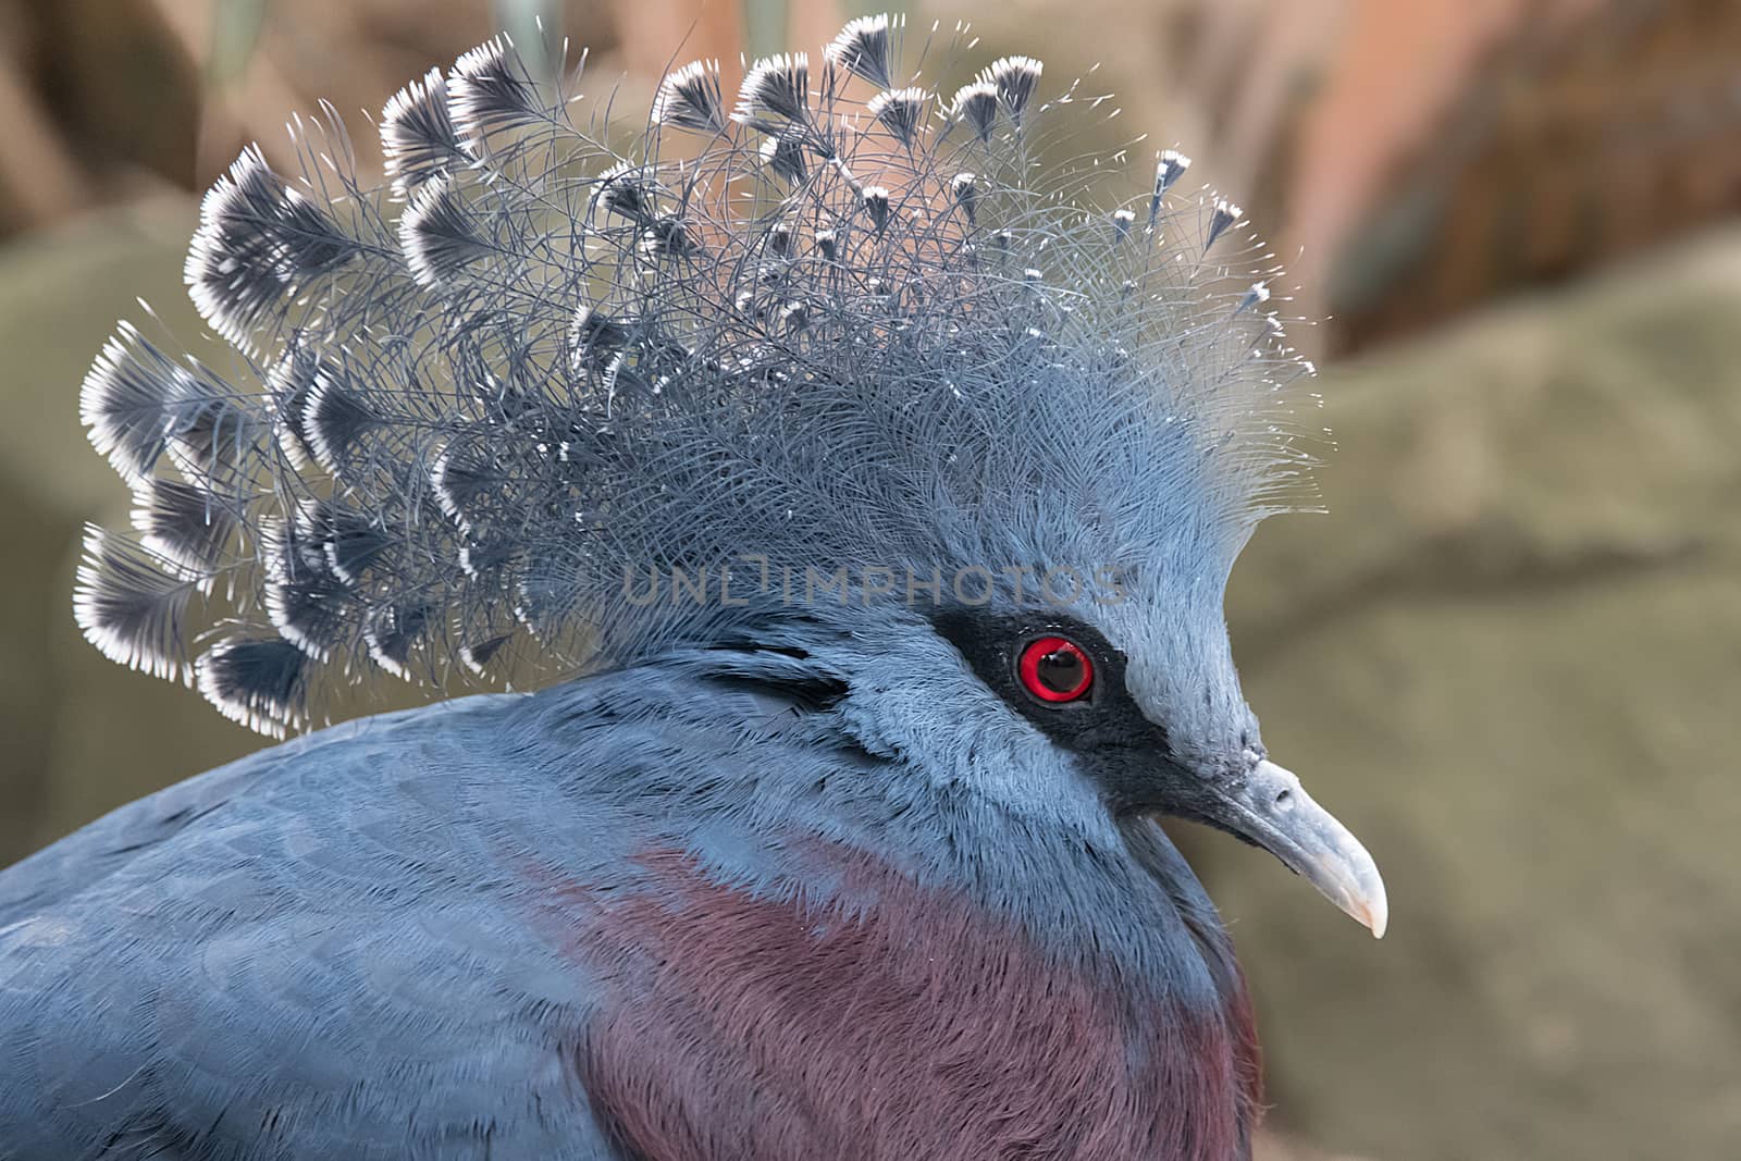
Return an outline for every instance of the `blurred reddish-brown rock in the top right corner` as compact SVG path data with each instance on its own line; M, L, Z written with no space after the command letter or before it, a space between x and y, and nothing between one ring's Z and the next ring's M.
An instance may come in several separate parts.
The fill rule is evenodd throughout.
M1165 2L1161 136L1297 254L1328 352L1741 209L1734 0Z

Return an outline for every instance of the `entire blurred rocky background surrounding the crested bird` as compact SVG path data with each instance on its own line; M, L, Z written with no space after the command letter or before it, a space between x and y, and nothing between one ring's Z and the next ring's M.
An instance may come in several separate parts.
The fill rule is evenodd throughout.
M145 298L195 334L197 195L329 99L541 19L644 108L815 52L836 0L0 0L0 863L261 745L85 646L120 480L78 383ZM1323 322L1330 515L1229 618L1266 740L1372 848L1391 935L1184 834L1240 943L1269 1158L1741 1156L1741 0L961 0L1093 73ZM984 63L980 59L970 64ZM728 75L728 84L733 78Z

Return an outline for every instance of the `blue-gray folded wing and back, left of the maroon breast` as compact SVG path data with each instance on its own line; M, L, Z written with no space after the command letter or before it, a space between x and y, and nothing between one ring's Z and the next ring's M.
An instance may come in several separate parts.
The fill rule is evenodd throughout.
M503 823L559 790L489 769L503 701L268 750L0 874L0 1158L613 1156L569 1067L585 966Z

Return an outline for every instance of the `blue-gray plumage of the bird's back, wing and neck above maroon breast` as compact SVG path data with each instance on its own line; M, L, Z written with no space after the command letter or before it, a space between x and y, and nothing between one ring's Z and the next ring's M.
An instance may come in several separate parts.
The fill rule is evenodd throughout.
M1086 929L1160 996L1215 994L1215 959L1175 954L1213 910L1153 823L1112 825L1020 722L815 714L787 691L890 675L804 639L336 726L0 872L0 1156L613 1159L575 1053L622 966L571 921L641 889L649 848L850 910L783 841L811 836L1020 916L1060 964ZM985 754L1003 783L961 787Z

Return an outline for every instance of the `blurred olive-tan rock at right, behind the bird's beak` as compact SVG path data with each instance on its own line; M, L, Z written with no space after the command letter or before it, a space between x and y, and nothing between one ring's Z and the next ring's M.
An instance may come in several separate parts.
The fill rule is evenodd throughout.
M1382 943L1187 836L1274 1121L1381 1158L1741 1142L1741 233L1339 367L1332 515L1231 616L1264 736L1367 839Z

